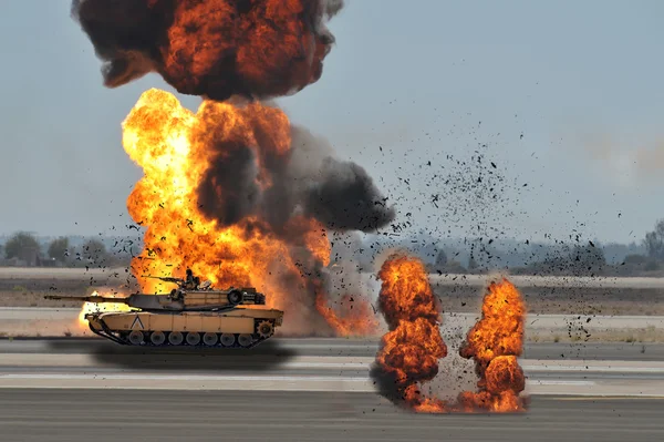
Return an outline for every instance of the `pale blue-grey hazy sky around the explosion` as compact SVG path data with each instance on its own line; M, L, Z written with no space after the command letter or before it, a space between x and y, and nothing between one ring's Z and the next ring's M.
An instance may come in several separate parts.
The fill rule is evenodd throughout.
M3 6L0 235L124 228L142 171L121 123L143 91L175 91L156 74L104 88L69 0ZM365 167L411 229L466 236L483 218L504 237L640 241L664 218L663 13L660 1L347 0L321 79L278 103ZM478 150L505 178L498 198L443 184L474 182L455 161Z

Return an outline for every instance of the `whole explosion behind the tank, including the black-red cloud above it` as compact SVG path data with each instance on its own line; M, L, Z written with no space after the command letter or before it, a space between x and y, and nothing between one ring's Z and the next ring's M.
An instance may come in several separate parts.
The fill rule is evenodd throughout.
M146 228L132 263L143 291L169 289L147 275L191 268L217 286L266 292L268 307L288 313L282 332L375 330L363 294L335 292L328 234L374 230L394 218L393 208L362 167L336 160L276 105L256 101L320 78L334 42L324 21L341 7L74 0L72 13L105 62L107 86L155 71L179 92L204 97L193 113L152 89L123 123L125 151L144 171L127 201Z

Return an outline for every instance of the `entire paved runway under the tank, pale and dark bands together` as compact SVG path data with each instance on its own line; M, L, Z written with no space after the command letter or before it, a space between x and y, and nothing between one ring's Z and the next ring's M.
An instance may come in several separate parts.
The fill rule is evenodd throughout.
M349 339L251 351L0 340L0 440L664 440L664 346L529 345L520 364L531 403L518 415L401 410L369 377L376 349ZM457 362L442 363L437 388L464 387Z

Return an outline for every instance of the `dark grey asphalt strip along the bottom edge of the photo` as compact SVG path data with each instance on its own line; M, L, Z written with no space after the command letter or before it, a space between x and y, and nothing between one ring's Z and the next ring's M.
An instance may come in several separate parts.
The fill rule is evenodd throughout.
M664 401L536 397L517 415L426 415L369 393L0 390L3 442L662 441Z

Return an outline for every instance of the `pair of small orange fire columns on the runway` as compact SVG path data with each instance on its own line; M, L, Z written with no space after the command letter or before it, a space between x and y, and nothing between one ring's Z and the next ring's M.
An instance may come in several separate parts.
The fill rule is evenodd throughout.
M418 412L525 410L519 393L526 382L517 357L523 345L526 310L511 282L504 279L488 287L483 318L460 349L464 358L476 362L478 391L461 392L456 403L448 403L421 391L421 384L438 373L438 360L447 356L438 326L442 310L423 264L395 254L383 264L378 277L383 281L380 307L390 325L372 368L382 394Z

